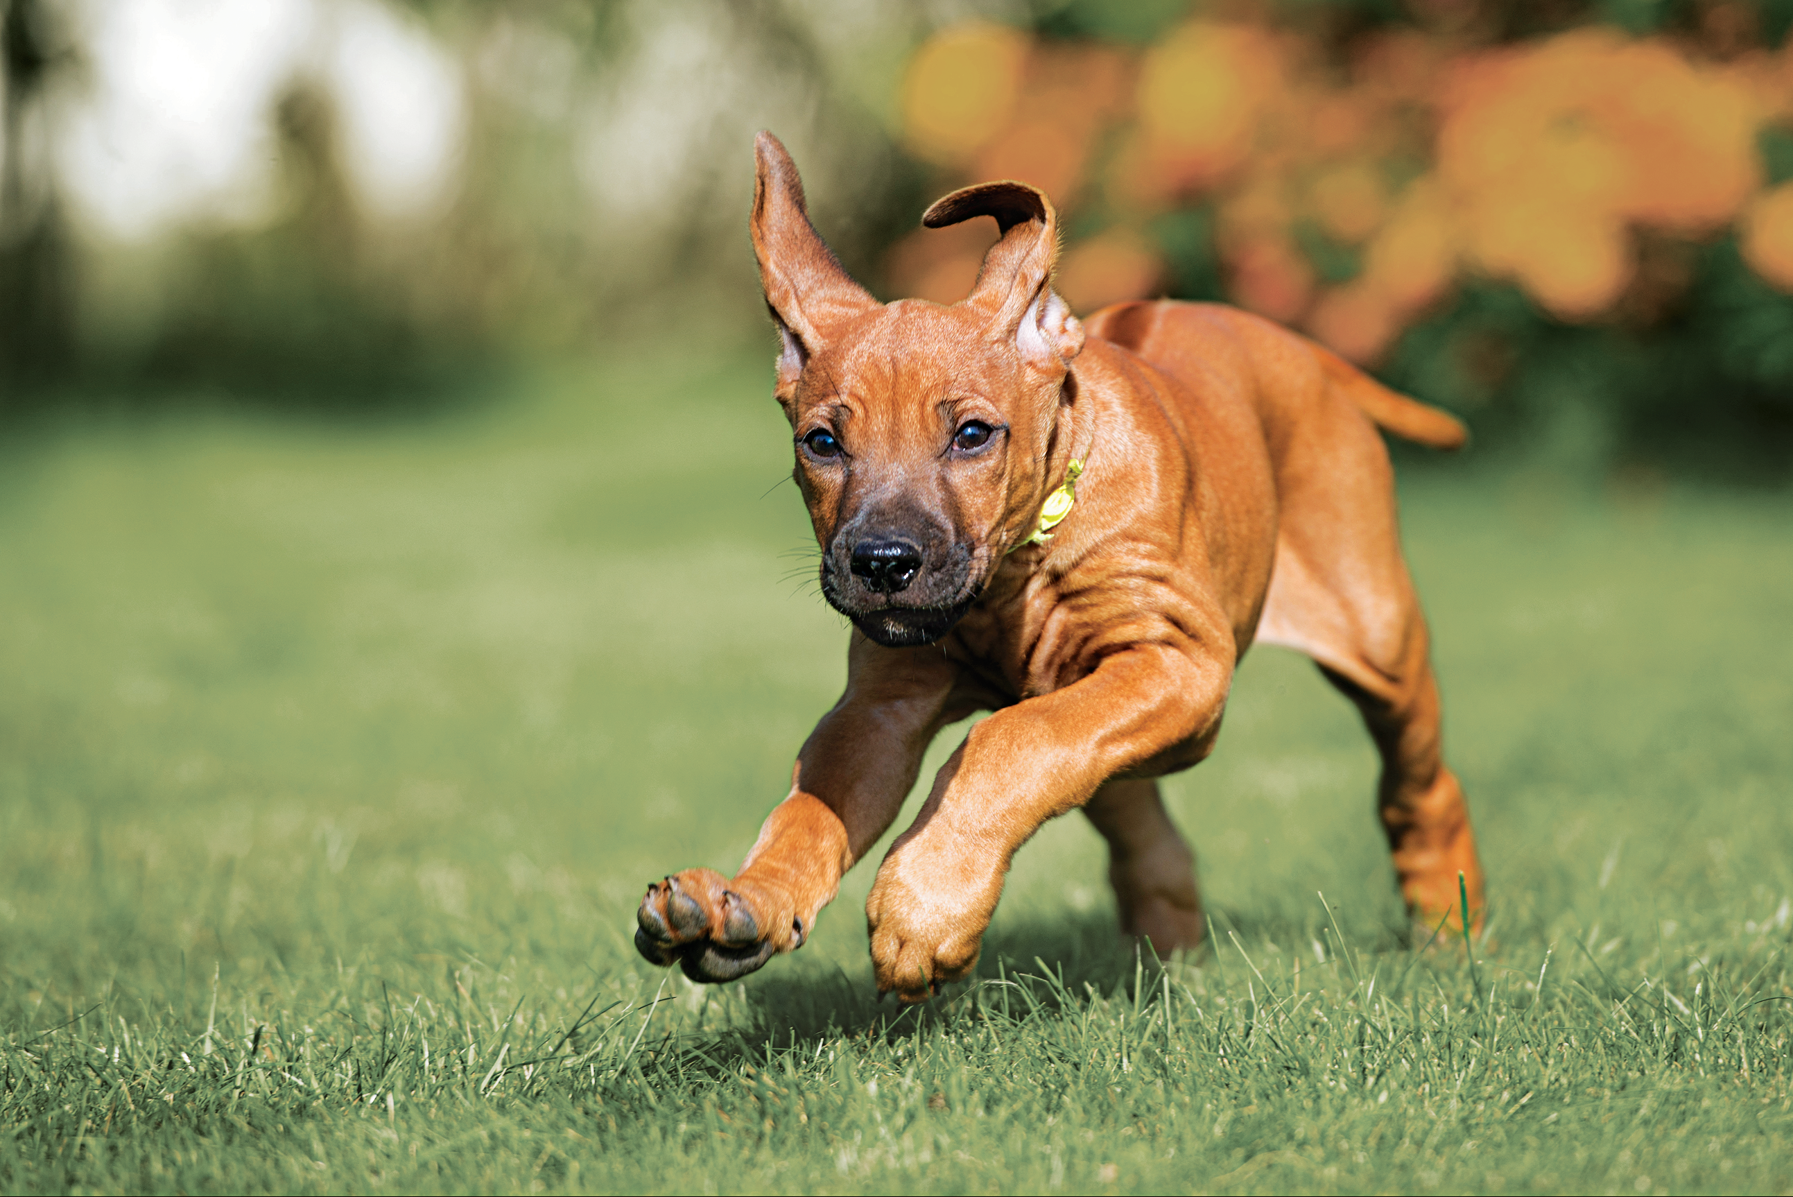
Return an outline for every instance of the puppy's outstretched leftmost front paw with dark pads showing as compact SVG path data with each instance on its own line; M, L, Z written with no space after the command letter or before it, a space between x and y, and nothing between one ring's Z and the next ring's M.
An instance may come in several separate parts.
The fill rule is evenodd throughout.
M767 904L714 869L687 869L647 887L635 949L662 967L678 964L694 982L732 982L803 942L801 924Z

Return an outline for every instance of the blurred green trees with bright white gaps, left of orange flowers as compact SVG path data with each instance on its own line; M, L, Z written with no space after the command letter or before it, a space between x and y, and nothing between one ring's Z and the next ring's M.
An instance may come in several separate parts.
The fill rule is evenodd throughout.
M4 13L14 413L427 404L482 366L757 323L762 126L861 269L920 196L884 97L934 20L895 0Z

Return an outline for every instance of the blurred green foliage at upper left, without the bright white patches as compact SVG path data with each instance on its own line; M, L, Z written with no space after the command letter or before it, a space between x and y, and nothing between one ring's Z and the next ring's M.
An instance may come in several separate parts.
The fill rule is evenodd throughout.
M339 415L427 409L493 370L674 319L697 339L739 337L764 319L744 237L755 120L812 147L814 208L850 264L870 267L898 208L913 219L914 172L866 93L900 45L853 23L895 23L905 41L918 18L898 5L852 20L778 0L384 7L450 63L466 104L446 205L427 217L369 214L344 97L316 65L273 95L274 203L249 223L199 212L120 239L82 217L41 138L4 140L0 420L195 391ZM0 14L7 120L61 129L97 86L93 14L68 0L0 0ZM687 86L690 70L705 88ZM728 151L735 169L717 163ZM663 196L631 194L619 215L601 194L613 176L658 178ZM638 192L629 179L622 190Z

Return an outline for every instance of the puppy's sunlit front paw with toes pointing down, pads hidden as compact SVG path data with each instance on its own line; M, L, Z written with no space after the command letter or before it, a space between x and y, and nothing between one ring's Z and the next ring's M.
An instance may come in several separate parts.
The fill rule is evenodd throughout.
M916 1003L977 965L1002 878L923 887L911 883L907 872L895 858L879 870L866 899L866 930L879 992Z

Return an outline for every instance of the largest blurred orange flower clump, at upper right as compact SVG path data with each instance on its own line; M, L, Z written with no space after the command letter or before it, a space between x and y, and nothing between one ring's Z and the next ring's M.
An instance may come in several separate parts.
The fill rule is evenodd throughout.
M1746 81L1610 29L1468 56L1440 111L1467 249L1563 319L1630 285L1630 228L1721 228L1761 181Z

